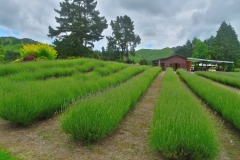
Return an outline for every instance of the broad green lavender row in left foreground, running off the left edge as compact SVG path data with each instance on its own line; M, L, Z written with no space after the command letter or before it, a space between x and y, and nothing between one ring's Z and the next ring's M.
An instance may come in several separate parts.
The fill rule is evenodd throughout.
M88 74L85 80L65 77L48 81L5 82L0 84L0 118L29 125L36 119L48 118L56 111L64 110L79 98L122 83L146 68L129 65L108 76Z

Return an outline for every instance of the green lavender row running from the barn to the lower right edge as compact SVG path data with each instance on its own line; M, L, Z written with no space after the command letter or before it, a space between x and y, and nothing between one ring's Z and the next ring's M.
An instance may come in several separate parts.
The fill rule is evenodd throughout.
M240 95L238 93L184 70L178 70L178 73L199 97L240 129Z

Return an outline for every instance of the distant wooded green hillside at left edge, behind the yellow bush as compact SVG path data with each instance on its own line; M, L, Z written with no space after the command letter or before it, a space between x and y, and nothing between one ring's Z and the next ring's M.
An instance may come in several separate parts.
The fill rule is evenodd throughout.
M0 37L2 41L4 51L14 51L19 52L22 44L36 44L37 41L34 41L29 38L15 38L15 37Z

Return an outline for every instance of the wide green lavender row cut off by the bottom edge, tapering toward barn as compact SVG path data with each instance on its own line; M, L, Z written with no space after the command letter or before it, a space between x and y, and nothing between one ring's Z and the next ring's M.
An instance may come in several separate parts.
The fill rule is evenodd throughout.
M218 155L215 136L214 123L200 101L168 68L154 110L151 147L172 159L213 159Z

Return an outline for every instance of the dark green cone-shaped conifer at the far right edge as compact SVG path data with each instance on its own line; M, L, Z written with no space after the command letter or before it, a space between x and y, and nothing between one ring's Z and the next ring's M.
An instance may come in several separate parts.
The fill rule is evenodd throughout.
M213 59L235 61L240 58L240 43L233 27L222 22L211 48Z

